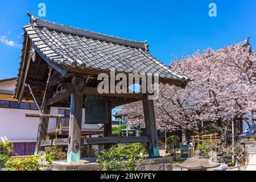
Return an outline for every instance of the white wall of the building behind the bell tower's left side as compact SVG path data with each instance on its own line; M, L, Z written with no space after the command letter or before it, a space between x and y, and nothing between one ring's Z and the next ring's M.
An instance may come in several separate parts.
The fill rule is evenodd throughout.
M0 90L14 90L15 80L0 82ZM2 95L0 100L17 101L11 96ZM58 109L69 109L64 107L51 107L51 114L58 114ZM0 137L15 142L35 141L38 133L39 118L25 117L25 113L39 113L38 110L7 109L0 108ZM82 111L82 129L98 129L98 125L84 124L84 109ZM56 129L56 119L50 118L48 130Z

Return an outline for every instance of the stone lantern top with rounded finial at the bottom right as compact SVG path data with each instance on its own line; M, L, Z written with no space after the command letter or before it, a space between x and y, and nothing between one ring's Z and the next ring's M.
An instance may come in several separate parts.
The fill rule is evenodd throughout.
M215 168L220 166L220 164L213 163L209 159L202 159L200 155L201 152L197 150L195 151L195 156L193 158L187 159L177 166L186 168L188 171L207 171L208 168Z

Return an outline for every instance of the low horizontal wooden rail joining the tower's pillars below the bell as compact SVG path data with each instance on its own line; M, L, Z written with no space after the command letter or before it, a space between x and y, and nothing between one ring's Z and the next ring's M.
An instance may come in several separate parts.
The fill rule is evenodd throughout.
M97 138L85 138L81 140L81 145L92 144L115 144L115 143L148 143L149 137L97 137ZM43 140L42 147L49 146L68 146L68 138Z

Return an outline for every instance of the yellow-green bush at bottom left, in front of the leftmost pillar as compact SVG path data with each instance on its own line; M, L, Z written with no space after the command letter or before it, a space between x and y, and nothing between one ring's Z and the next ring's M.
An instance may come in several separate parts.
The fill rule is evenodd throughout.
M49 154L30 155L24 158L12 158L6 163L7 171L40 171L51 165L53 158Z

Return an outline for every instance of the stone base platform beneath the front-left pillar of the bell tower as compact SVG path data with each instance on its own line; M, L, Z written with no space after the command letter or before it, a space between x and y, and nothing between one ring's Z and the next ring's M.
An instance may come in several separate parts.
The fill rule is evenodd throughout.
M82 158L79 163L69 163L67 160L55 160L49 171L97 171L97 158Z

